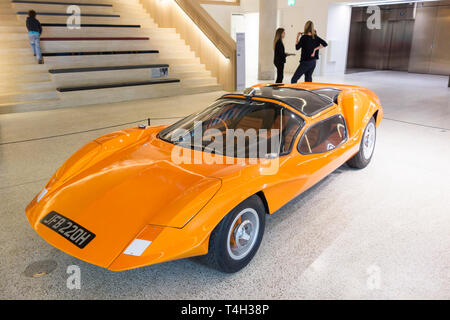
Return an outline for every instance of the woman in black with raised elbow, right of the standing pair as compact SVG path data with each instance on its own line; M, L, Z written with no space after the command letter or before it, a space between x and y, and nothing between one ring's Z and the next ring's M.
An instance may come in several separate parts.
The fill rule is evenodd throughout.
M308 21L305 24L304 32L299 32L297 35L295 48L302 49L302 55L300 65L295 71L291 83L297 83L303 75L305 75L305 82L312 82L312 74L316 68L316 61L319 59L319 50L326 46L328 44L317 36L314 23Z

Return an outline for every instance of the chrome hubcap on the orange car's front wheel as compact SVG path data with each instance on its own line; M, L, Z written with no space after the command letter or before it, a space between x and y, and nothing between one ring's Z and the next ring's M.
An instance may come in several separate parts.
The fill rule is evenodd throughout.
M234 219L228 232L228 254L234 260L245 258L256 243L259 217L255 209L242 210Z

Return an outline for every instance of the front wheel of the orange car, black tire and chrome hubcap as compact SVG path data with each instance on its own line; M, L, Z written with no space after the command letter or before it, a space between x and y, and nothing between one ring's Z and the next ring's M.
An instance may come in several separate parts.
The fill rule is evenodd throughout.
M214 228L208 254L201 260L225 273L235 273L244 268L261 244L265 215L264 204L256 195L239 204Z

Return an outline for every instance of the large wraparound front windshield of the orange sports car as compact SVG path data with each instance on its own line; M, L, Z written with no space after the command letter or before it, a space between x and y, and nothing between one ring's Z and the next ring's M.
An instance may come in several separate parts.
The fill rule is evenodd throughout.
M238 158L287 154L304 120L270 102L221 99L164 129L159 138L204 152Z

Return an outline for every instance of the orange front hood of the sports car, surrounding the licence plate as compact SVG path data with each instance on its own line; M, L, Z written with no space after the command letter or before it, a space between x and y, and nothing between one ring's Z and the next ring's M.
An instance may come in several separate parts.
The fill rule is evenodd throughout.
M48 192L27 207L31 226L61 250L106 267L146 225L188 223L220 189L221 179L174 164L169 149L152 143L151 130L142 132L103 137L74 154L46 185ZM52 211L95 239L84 249L75 247L40 222Z

